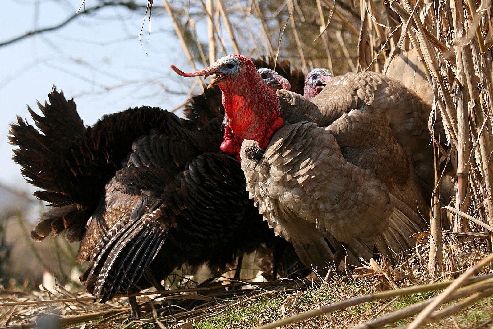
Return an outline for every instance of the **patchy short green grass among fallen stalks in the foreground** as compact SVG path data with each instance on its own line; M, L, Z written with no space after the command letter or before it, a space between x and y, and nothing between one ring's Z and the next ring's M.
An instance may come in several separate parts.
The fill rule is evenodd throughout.
M301 292L295 304L285 307L286 317L299 314L308 310L318 308L333 302L343 300L348 297L364 293L368 287L361 282L352 282L343 286L329 286L320 290L309 289ZM389 312L402 309L412 304L419 303L427 298L436 295L439 292L425 292L413 295L402 296L388 305L385 310L379 314L382 316ZM255 328L261 319L272 319L273 321L282 318L281 306L291 295L279 293L273 297L263 297L259 300L246 302L235 306L232 309L212 314L211 317L197 322L194 328L197 329L236 329L236 328ZM288 328L334 328L346 329L363 321L372 319L374 314L387 305L390 300L379 300L368 302L354 307L336 311L331 314L323 315L317 319L306 320L303 324L292 325ZM452 303L448 304L452 305ZM227 307L227 306L226 306ZM459 311L453 317L448 317L439 323L433 323L423 326L422 328L436 329L472 329L484 324L493 318L492 297L480 300L469 307ZM409 324L414 317L396 321L390 328L399 327ZM329 325L329 327L326 327ZM486 324L480 328L493 328L493 324Z

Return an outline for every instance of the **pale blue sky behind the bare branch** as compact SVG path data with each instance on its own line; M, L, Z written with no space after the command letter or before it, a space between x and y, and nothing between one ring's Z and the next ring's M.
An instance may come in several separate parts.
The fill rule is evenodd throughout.
M143 2L141 0L137 2ZM38 5L36 5L36 3ZM96 3L86 0L86 6ZM70 16L80 0L3 0L0 42L26 31L55 25ZM141 105L173 109L188 92L192 79L183 79L170 65L190 70L167 15L153 16L151 34L143 15L122 7L82 15L57 31L28 37L0 47L0 182L33 191L11 160L8 124L15 115L27 118L26 104L37 109L52 84L74 98L85 124L103 114ZM131 83L128 83L131 81ZM32 120L29 120L32 123Z

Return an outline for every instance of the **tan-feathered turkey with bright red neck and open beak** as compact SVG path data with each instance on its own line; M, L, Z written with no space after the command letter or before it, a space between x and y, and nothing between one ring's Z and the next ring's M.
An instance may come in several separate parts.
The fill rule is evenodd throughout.
M306 265L331 261L326 239L393 256L426 228L420 179L428 172L422 168L419 177L413 165L428 151L421 142L430 140L430 108L399 82L348 73L308 101L266 88L241 55L195 73L172 68L182 76L217 75L211 85L223 92L233 131L250 140L241 150L250 196Z

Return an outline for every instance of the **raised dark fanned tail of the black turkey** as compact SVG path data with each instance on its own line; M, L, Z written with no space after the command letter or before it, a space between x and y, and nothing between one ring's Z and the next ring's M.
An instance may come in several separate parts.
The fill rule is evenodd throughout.
M73 242L81 239L88 214L73 202L70 196L73 187L64 185L63 177L70 169L60 162L59 154L80 138L85 128L73 100L67 101L55 86L48 99L44 106L37 103L44 116L28 107L38 129L17 116L17 124L10 126L9 140L10 144L19 146L14 150L13 160L21 165L22 175L43 189L34 195L58 206L43 215L31 237L41 241L50 233L57 235L65 230L67 240Z

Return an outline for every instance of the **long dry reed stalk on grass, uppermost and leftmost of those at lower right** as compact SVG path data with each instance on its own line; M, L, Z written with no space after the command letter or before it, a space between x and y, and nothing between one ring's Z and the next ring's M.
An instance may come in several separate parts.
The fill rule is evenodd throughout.
M493 255L492 255L493 256ZM482 278L482 279L480 279ZM472 279L476 279L480 282L483 280L492 280L493 275L485 275L481 277L476 277ZM469 278L466 278L466 280ZM396 290L389 290L385 292L379 292L379 293L372 293L372 294L366 294L363 296L359 297L353 297L350 299L346 299L337 303L333 303L330 305L322 306L318 309L311 310L308 312L304 312L301 314L297 314L294 316L291 316L289 318L285 318L279 321L275 321L273 323L269 323L260 327L257 327L256 329L275 329L278 327L282 327L285 325L290 325L293 323L301 322L303 320L307 320L310 318L315 318L317 316L334 312L346 307L351 307L355 305L359 305L362 303L378 300L378 299L387 299L387 298L393 298L393 297L400 297L400 296L405 296L413 293L418 293L418 292L430 292L430 291L435 291L439 289L444 289L446 287L450 287L452 284L455 284L457 280L451 280L451 281L445 281L445 282L439 282L439 283L432 283L432 284L427 284L427 285L419 285L415 287L408 287L408 288L402 288L402 289L396 289ZM469 281L469 284L473 282L478 282L478 281Z

